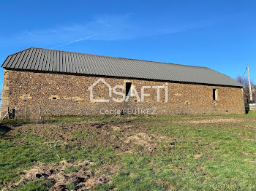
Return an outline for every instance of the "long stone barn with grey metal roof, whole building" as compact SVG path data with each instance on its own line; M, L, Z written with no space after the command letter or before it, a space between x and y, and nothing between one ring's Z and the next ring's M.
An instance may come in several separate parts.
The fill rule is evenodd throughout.
M206 67L35 47L1 67L1 117L244 113L242 85Z

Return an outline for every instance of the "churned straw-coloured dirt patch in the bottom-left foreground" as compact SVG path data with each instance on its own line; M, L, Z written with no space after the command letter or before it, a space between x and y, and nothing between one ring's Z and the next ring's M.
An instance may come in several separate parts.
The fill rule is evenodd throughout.
M90 162L67 163L61 161L59 164L38 163L29 170L23 171L20 181L10 183L4 190L11 190L19 187L24 182L34 181L37 179L48 180L53 183L50 190L65 190L65 185L73 184L74 190L89 190L101 184L110 181L110 175L100 175L99 171L89 170ZM73 171L70 172L69 168ZM113 168L113 167L112 167ZM75 170L74 170L75 169Z

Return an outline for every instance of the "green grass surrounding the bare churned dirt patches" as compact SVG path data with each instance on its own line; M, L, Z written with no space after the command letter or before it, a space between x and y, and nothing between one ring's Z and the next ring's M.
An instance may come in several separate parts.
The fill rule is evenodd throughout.
M198 117L208 120L223 116ZM141 125L145 126L148 134L171 139L157 142L154 153L143 152L143 147L137 145L135 152L124 155L116 155L111 145L78 147L69 143L68 146L50 148L44 144L48 140L31 134L16 134L12 135L13 139L6 139L11 130L3 126L0 128L0 182L18 181L20 171L39 161L86 160L94 162L90 166L91 171L97 171L105 164L122 167L110 183L95 190L256 190L256 112L224 117L242 121L193 124L187 122L194 120L190 116L134 118L137 122L143 120ZM79 120L59 118L54 122ZM83 130L72 135L100 139L98 135L96 137L94 133ZM69 167L66 171L79 170L79 167ZM49 182L39 180L26 182L18 190L48 190L49 187ZM74 184L66 185L69 190L74 187Z

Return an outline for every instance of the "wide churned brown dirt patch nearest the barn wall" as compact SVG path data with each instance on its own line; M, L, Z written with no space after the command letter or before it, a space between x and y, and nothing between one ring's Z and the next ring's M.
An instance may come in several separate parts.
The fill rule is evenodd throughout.
M157 141L170 141L169 137L148 134L149 127L140 122L69 122L53 124L28 124L13 128L13 133L32 134L48 139L48 147L95 146L110 147L117 153L134 152L136 146L143 147L142 152L152 152Z

